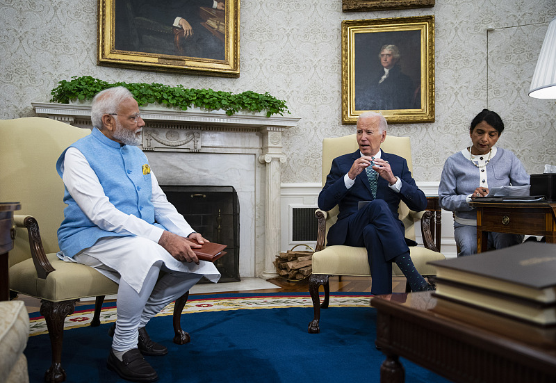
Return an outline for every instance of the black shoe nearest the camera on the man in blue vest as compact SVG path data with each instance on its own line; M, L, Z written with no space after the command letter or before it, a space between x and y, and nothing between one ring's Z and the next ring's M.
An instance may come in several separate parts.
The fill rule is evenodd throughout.
M122 359L122 361L117 359L113 350L110 350L106 367L120 375L122 379L131 382L156 382L158 380L156 371L143 359L137 348L127 351Z

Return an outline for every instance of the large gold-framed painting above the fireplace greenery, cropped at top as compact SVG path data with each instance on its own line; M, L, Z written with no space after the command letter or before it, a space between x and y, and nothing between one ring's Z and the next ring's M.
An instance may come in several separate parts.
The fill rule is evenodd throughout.
M240 0L99 0L97 64L239 76Z

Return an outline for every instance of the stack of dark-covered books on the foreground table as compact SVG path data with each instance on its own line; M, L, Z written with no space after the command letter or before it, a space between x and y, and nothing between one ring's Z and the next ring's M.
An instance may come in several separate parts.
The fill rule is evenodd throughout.
M521 245L436 268L434 311L528 343L556 345L556 245Z

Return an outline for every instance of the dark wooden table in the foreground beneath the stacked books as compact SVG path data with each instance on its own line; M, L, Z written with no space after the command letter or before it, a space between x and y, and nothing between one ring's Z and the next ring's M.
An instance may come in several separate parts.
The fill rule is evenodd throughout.
M556 347L541 348L434 312L430 291L379 295L380 382L404 382L399 357L453 382L556 382ZM512 333L512 332L509 332Z

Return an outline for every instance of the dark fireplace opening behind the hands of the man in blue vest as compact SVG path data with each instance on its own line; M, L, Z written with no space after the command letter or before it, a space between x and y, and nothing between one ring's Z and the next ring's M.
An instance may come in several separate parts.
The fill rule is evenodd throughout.
M233 186L162 186L168 201L208 241L227 254L215 261L220 282L239 282L239 201ZM203 277L199 283L209 282Z

